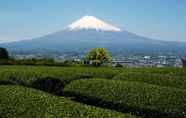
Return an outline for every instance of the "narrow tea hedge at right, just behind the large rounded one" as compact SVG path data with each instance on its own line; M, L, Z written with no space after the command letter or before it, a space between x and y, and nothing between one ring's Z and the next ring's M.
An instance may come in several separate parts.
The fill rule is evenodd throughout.
M119 74L115 76L114 79L145 82L148 84L186 89L186 76L130 72Z

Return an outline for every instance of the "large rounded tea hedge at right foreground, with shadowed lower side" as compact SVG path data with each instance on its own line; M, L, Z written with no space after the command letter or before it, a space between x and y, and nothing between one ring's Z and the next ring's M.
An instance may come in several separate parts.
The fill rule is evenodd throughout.
M72 81L64 92L87 104L131 112L145 118L186 117L186 91L108 79Z

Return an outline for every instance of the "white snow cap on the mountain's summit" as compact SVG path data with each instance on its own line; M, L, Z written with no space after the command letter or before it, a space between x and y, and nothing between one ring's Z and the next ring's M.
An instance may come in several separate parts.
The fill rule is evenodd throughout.
M121 29L115 26L112 26L102 20L97 19L94 16L84 16L80 20L75 21L71 25L69 25L67 30L88 30L95 29L97 31L110 31L110 32L120 32Z

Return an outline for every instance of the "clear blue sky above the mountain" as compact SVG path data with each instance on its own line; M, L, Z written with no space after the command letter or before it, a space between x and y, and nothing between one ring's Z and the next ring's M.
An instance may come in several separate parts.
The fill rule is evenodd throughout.
M0 43L62 30L84 15L142 36L186 42L186 0L0 0Z

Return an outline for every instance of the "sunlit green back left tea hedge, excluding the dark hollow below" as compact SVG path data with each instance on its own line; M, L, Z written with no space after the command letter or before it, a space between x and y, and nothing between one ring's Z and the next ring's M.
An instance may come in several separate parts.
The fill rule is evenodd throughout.
M30 86L38 79L58 78L64 83L81 78L113 78L118 72L113 68L0 66L0 84L13 83Z

